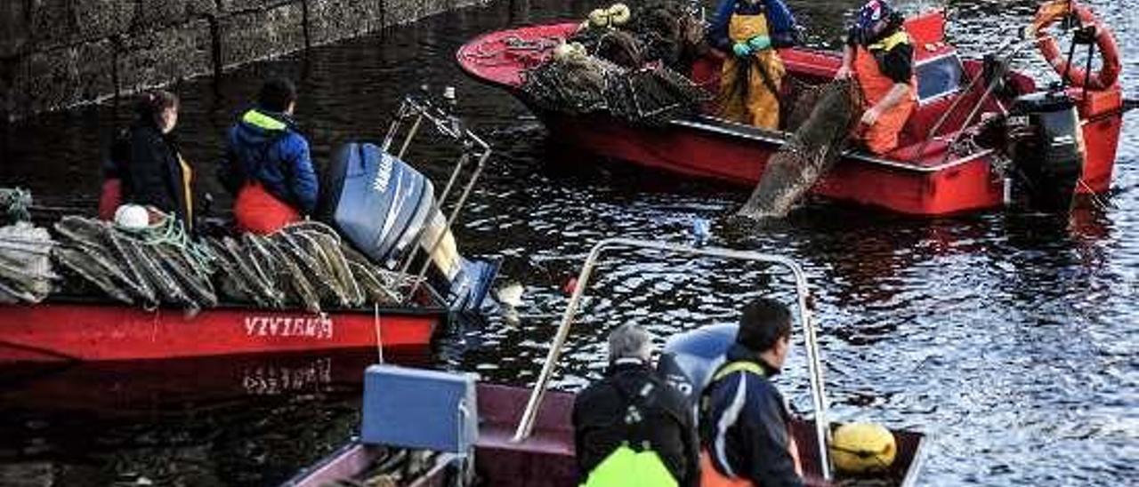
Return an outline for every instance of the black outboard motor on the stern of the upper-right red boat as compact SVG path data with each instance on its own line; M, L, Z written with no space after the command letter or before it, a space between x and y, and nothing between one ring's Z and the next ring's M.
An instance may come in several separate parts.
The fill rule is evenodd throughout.
M1067 212L1083 175L1084 145L1075 104L1064 91L1022 96L1006 122L1014 193L1030 207Z

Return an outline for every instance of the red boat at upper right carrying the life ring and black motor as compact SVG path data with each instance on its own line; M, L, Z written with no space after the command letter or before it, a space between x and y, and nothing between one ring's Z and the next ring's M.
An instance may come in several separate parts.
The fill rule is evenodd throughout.
M1007 114L1021 94L1038 90L1036 83L1027 75L1009 72L1002 76L1009 90L988 90L986 82L977 82L984 79L985 63L962 60L957 49L945 42L944 27L945 17L940 10L906 24L915 44L919 106L903 130L901 146L880 157L849 150L812 188L813 193L927 216L1009 203L1010 172L1001 163L999 151L972 145L962 150L959 142L985 114ZM470 76L503 88L525 102L521 91L525 72L549 59L554 47L572 36L576 28L577 23L556 23L489 33L462 46L457 59ZM1013 52L1043 39L1021 42ZM1100 36L1104 39L1111 39L1109 31ZM1114 40L1111 42L1114 49ZM808 84L833 79L841 65L838 52L793 48L780 50L780 56L787 75ZM688 74L714 92L721 63L722 56L713 52L698 59ZM1122 114L1130 107L1125 108L1121 88L1114 80L1105 88L1072 86L1066 91L1079 113L1085 145L1082 174L1072 183L1079 193L1105 192L1112 180ZM974 107L976 113L972 113ZM551 133L558 134L558 142L605 157L741 187L755 185L768 158L788 137L786 132L759 130L708 115L648 127L605 114L572 116L531 108ZM943 115L945 119L939 123ZM1073 135L1077 131L1073 127ZM1067 191L1071 199L1072 190Z

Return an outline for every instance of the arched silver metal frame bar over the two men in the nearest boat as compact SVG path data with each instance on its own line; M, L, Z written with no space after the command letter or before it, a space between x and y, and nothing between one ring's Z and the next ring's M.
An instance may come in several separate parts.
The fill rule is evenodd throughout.
M593 269L597 266L597 262L598 258L600 258L601 253L612 248L653 249L682 255L762 262L781 265L790 270L792 274L795 276L795 292L797 295L800 323L803 328L803 346L806 348L808 369L810 370L811 377L811 398L814 405L814 427L816 435L818 435L819 460L821 463L822 477L830 480L831 465L829 452L827 449L827 445L830 444L830 428L828 428L827 422L827 401L822 381L822 360L819 355L818 338L814 322L811 319L811 309L806 305L810 292L806 287L806 274L803 272L803 269L790 258L749 250L696 248L678 244L626 238L611 238L597 242L581 266L581 272L577 274L577 287L570 297L570 304L566 305L566 309L562 315L562 323L558 325L557 335L554 337L554 344L550 347L550 352L546 356L546 362L542 365L542 372L539 375L538 383L534 385L533 393L530 395L530 401L526 403L526 408L523 411L522 419L518 421L518 427L515 430L511 441L524 441L527 437L530 437L534 427L534 420L538 418L538 407L546 395L546 387L557 368L558 358L562 355L562 348L565 346L566 338L570 336L570 328L573 325L574 315L577 312L577 307L581 305L581 298L585 294L585 288L589 286L589 279L593 274Z

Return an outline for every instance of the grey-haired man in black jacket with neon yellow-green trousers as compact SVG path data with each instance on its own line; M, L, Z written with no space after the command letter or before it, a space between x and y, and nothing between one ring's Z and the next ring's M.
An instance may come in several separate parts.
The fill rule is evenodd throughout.
M698 485L693 410L656 374L650 355L647 331L618 327L605 379L577 395L574 446L584 486Z

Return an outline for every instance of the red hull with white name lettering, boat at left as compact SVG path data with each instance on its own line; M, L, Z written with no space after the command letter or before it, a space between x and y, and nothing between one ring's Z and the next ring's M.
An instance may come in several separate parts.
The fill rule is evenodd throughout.
M426 348L442 309L329 312L221 307L195 316L113 304L0 306L0 363L128 361L235 354Z

